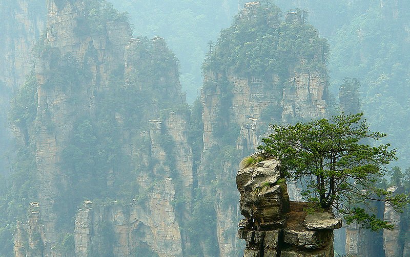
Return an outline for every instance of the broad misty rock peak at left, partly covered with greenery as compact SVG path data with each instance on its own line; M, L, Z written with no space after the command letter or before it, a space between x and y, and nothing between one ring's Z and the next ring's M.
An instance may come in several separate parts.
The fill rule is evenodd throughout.
M43 236L31 248L41 256L98 255L103 249L110 256L141 249L181 256L173 204L175 195L189 199L193 178L189 111L163 111L185 101L174 56L162 38L132 39L126 19L109 5L49 1L47 8L47 37L35 59L35 118L27 126L15 126L20 138L28 135L22 143L33 142L35 149L41 206L37 223ZM131 115L130 108L135 108ZM108 154L101 155L89 144L94 137L97 145L114 140L112 152L104 147ZM94 162L90 170L81 156L75 157L78 151ZM115 165L118 158L121 165ZM77 212L74 229L65 217L75 214L78 200L105 199L101 192L106 191L115 192L113 198L121 195L127 204L86 205ZM140 198L133 201L131 191ZM16 254L31 252L19 236L32 235L25 226L15 237ZM61 241L66 234L74 238L75 251L61 246L68 244ZM110 236L115 243L104 241Z

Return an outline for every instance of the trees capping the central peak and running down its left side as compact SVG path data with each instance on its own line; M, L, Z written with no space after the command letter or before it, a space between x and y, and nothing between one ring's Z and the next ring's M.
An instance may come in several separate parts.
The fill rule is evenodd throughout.
M202 66L202 72L207 76L203 83L203 90L206 95L217 95L212 105L214 109L211 120L212 136L217 143L210 149L203 150L199 170L194 169L198 184L210 185L195 191L192 201L194 212L191 215L195 224L209 224L210 220L216 219L217 212L236 207L238 193L233 190L236 188L236 165L243 154L252 151L244 149L242 152L237 147L240 127L232 119L234 83L229 77L254 76L271 83L272 74L275 74L280 80L276 82L278 85L275 85L275 89L277 87L281 90L290 75L294 75L294 69L299 72L303 69L304 72L326 73L324 64L327 58L327 44L325 40L318 38L317 31L306 22L306 18L303 20L302 17L305 17L303 11L293 12L298 17L297 21L283 19L280 10L268 3L264 3L257 11L259 14L252 16L249 21L247 16L238 14L234 18L233 25L221 31L216 43L208 43L209 53ZM267 88L267 90L272 89ZM278 106L268 106L267 111L269 112L264 113L263 116L264 122L270 122L272 119L281 120ZM200 142L203 127L196 131L200 131L196 136L197 141ZM193 148L193 152L196 151L202 149ZM241 166L252 166L260 160L247 158ZM266 189L270 186L268 185ZM218 193L216 197L215 192ZM210 199L213 205L204 207L203 199ZM204 215L197 217L199 213L195 212L196 208L207 209L209 217ZM191 221L187 225L188 236L194 245L199 246L204 244L204 240L207 242L207 239L209 241L215 238L213 229L203 230L198 237L197 231L191 228ZM231 232L230 229L228 230L227 233ZM232 235L234 230L235 228L232 229ZM209 243L212 245L212 242ZM239 256L240 251L235 252L235 250L232 254ZM200 249L196 248L189 251L190 254L198 252Z

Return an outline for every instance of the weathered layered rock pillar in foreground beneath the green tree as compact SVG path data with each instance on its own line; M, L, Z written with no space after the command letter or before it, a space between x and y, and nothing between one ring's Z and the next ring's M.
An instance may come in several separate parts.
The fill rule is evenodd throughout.
M306 213L307 202L290 202L279 167L270 159L237 173L244 257L334 256L333 230L342 220L324 211Z

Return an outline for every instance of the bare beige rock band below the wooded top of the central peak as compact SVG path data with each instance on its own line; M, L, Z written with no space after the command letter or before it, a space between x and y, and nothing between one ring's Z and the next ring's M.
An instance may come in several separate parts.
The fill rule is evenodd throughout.
M275 81L277 75L267 81L228 73L226 79L232 86L228 108L224 108L220 97L228 93L222 92L223 89L218 88L221 85L215 82L219 76L224 75L206 75L206 83L215 83L216 88L205 87L201 91L204 149L218 144L215 133L219 131L215 132L215 126L221 122L240 126L238 147L247 151L260 145L260 135L263 129L267 129L270 119L287 122L297 118L319 118L326 114L326 101L323 99L323 93L327 90L325 74L294 73L290 75L290 85L284 87ZM221 114L221 109L226 113ZM222 115L226 115L222 118L224 120L218 120ZM266 115L270 116L268 120Z

